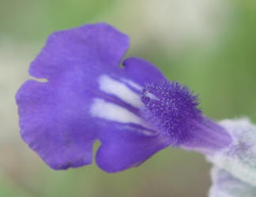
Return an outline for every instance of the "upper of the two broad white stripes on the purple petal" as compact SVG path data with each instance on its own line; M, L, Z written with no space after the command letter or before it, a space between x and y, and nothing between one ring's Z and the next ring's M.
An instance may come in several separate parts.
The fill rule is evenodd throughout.
M131 106L141 107L142 102L139 95L130 90L126 84L122 84L117 80L111 79L107 75L100 76L99 78L100 90L108 94L119 97L124 102L129 103Z

